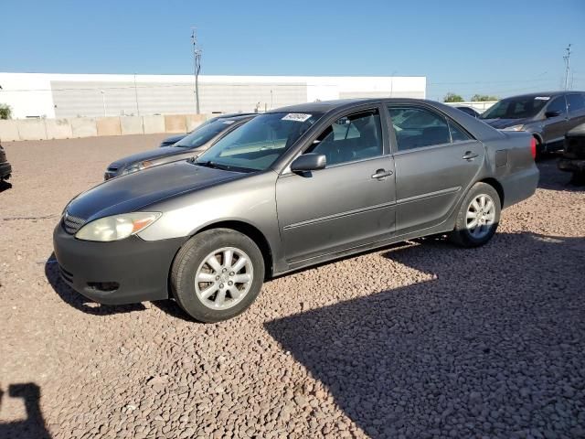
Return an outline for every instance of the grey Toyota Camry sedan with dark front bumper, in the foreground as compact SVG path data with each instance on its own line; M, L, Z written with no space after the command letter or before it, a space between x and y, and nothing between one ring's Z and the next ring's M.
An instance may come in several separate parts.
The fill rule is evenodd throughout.
M282 108L197 159L72 199L55 255L65 282L97 302L175 298L197 320L224 320L265 279L319 262L434 234L483 245L501 209L535 192L535 147L437 102Z

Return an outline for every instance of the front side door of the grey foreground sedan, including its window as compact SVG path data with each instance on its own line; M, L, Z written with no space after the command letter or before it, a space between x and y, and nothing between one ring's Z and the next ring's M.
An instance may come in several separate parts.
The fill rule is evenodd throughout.
M388 150L378 108L350 113L304 151L325 155L324 169L278 178L276 203L287 262L294 265L392 234L394 161Z

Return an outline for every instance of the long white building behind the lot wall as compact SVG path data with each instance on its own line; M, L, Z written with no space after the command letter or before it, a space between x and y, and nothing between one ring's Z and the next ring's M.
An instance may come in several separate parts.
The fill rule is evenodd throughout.
M196 112L193 75L0 72L13 118ZM254 112L354 97L424 98L425 77L199 76L200 112Z

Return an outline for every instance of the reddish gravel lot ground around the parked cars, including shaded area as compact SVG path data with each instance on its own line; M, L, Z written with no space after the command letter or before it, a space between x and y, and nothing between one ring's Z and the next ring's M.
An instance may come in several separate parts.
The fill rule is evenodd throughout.
M5 145L0 437L585 437L585 189L554 159L484 248L403 243L201 325L91 304L52 260L69 198L163 136Z

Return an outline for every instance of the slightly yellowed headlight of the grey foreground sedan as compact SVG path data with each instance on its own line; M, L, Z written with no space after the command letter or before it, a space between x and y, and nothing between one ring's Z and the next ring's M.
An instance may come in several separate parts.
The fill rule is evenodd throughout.
M159 212L133 212L95 219L75 234L83 241L120 241L150 226L161 217Z

